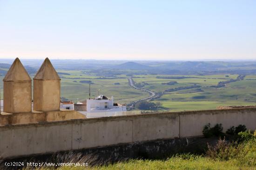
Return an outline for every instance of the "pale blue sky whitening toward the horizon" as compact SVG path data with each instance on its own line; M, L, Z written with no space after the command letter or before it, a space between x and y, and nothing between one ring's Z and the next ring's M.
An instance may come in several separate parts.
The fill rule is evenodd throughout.
M256 59L256 0L0 0L0 58Z

